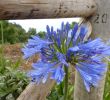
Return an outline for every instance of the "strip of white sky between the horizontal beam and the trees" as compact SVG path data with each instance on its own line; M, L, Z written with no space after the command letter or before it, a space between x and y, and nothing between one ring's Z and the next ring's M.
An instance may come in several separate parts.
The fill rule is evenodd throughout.
M53 26L54 29L60 27L61 22L78 22L79 18L61 18L61 19L31 19L31 20L10 20L11 23L21 25L26 31L29 28L36 28L36 31L46 31L46 25Z

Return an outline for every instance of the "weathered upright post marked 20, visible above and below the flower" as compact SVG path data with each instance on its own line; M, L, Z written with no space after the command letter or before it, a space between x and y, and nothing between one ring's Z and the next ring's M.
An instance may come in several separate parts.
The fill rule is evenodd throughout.
M102 39L110 38L110 1L95 0L98 6L97 13L89 20L92 23L93 33L98 34ZM87 93L79 74L76 72L74 100L103 100L105 76L99 83L98 88L91 88Z

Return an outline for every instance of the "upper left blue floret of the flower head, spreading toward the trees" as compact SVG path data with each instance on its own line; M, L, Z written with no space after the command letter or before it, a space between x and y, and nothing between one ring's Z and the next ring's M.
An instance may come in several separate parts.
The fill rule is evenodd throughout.
M24 58L27 59L36 53L40 53L43 47L48 47L53 42L49 42L48 40L42 40L37 36L33 36L32 39L28 40L26 47L22 49L24 53Z

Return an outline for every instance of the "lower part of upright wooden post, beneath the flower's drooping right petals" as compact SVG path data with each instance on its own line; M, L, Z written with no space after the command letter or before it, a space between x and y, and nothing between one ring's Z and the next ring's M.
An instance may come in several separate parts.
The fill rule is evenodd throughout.
M91 87L88 93L78 72L75 73L74 100L103 100L105 76L97 88Z

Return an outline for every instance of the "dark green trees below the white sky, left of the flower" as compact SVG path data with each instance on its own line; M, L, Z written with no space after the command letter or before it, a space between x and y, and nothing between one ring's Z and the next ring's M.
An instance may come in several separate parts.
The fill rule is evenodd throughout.
M4 43L24 43L30 38L32 35L36 35L35 28L29 28L26 32L19 24L10 23L7 20L0 21L3 26L3 34L4 34ZM37 33L41 37L44 36L44 32ZM1 29L0 29L0 43L1 43Z

